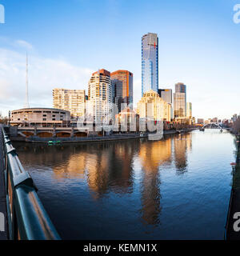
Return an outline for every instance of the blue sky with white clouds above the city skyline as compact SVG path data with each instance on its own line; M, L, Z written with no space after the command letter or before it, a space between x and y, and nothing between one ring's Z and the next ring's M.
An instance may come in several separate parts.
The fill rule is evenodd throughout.
M0 112L52 107L52 90L85 89L99 69L134 73L141 98L141 38L159 38L159 87L184 82L195 118L240 112L240 0L0 0Z

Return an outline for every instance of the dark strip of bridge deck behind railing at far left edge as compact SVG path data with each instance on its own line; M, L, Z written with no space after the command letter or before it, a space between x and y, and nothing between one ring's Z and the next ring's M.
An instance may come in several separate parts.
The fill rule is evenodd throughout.
M1 128L2 127L0 126L0 129ZM0 213L4 214L4 217L5 217L4 219L5 231L0 230L0 240L7 240L6 193L5 193L5 180L4 180L4 171L3 171L3 148L2 148L2 132L1 131L0 131ZM0 222L1 221L2 220L0 219Z

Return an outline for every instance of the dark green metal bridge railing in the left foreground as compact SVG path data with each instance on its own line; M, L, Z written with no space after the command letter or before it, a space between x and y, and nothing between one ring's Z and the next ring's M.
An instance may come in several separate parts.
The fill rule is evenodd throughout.
M10 240L59 240L58 232L38 198L33 179L22 167L5 130L0 132L3 134Z

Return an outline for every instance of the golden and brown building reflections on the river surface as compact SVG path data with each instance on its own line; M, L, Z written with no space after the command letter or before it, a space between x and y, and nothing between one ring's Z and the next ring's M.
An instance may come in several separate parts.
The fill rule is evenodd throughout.
M158 225L161 213L161 169L174 164L182 173L191 150L191 134L180 134L158 142L133 139L122 142L63 146L18 146L24 166L37 163L53 170L54 179L82 179L93 198L110 192L131 194L134 190L134 162L140 160L141 218L147 225ZM38 154L39 153L39 154ZM42 154L43 153L43 154ZM41 166L41 168L38 168ZM136 170L135 170L136 171Z

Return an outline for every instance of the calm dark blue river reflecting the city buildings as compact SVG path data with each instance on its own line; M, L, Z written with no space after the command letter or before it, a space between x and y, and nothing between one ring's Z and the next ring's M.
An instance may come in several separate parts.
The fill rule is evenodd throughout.
M223 239L234 136L14 143L62 239Z

